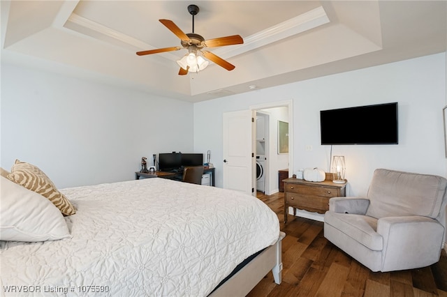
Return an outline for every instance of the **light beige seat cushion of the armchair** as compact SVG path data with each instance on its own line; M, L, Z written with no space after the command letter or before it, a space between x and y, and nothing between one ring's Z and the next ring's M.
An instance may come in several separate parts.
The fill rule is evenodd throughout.
M330 224L335 229L339 229L339 231L353 238L354 241L365 245L369 250L381 251L383 249L383 238L376 232L376 218L327 211L324 221L325 224Z

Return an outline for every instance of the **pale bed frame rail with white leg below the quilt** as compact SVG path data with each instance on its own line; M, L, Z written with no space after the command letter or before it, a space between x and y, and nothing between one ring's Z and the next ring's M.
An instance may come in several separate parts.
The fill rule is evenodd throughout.
M281 241L285 236L284 232L279 232L276 243L258 254L240 271L237 271L235 275L213 291L209 297L247 296L269 271L273 273L274 282L281 284Z

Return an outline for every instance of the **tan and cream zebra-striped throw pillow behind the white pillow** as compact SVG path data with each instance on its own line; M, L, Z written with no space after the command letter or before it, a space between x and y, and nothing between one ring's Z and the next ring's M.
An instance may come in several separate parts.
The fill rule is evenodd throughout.
M8 174L8 179L46 197L59 208L63 215L74 215L76 213L75 207L67 197L57 190L50 178L38 167L15 160L11 173Z

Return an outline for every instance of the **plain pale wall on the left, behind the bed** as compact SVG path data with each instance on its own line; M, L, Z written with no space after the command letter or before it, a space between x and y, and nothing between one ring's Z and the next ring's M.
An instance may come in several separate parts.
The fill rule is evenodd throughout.
M192 103L1 65L1 167L30 162L66 188L134 179L170 151L193 152Z

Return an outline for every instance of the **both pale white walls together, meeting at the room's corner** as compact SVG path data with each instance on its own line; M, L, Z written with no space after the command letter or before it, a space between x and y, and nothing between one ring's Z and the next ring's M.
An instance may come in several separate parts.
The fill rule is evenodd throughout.
M333 147L346 157L348 194L365 194L377 167L446 176L446 65L434 54L191 105L2 64L1 167L32 162L61 188L132 179L142 155L210 150L221 186L223 112L293 99L293 168L328 169L319 110L397 101L400 144Z

